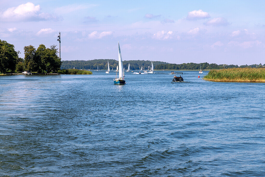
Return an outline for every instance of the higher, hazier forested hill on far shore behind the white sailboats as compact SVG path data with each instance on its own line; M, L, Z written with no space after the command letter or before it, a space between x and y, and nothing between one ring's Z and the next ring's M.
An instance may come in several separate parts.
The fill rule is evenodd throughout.
M128 60L128 61L122 61L123 66L127 69L128 65L130 63L130 69L131 70L138 70L141 69L143 66L143 69L147 69L148 66L151 66L151 61L147 60ZM117 60L109 59L109 68L113 70L116 70L117 68ZM153 65L159 65L159 64L168 64L167 62L162 61L153 61ZM71 61L62 61L61 69L91 69L95 70L107 70L108 69L108 60L107 59L96 59L96 60L71 60Z

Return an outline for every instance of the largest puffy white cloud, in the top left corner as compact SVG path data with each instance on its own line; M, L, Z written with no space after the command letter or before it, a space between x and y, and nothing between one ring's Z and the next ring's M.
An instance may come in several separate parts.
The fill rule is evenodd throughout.
M41 20L60 20L56 14L41 13L40 5L32 2L21 4L17 7L10 7L0 14L2 21L41 21Z

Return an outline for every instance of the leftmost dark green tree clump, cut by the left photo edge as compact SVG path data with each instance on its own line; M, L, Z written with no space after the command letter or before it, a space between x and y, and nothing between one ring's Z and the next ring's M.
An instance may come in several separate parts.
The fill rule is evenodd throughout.
M18 54L19 51L15 51L14 45L0 40L0 72L14 71L18 61Z

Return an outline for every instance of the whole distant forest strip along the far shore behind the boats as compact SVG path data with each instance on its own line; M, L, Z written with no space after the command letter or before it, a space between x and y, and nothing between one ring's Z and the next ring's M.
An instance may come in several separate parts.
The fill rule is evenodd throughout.
M109 68L116 70L117 67L117 60L109 60ZM151 66L151 61L147 60L129 60L123 61L123 66L125 69L128 68L130 63L131 70L139 70L143 66L143 69L148 69L148 66ZM169 69L169 70L199 70L200 64L199 63L183 63L183 64L171 64L162 61L153 61L154 69ZM99 70L107 70L108 68L108 60L107 59L96 59L96 60L71 60L71 61L62 61L61 69L91 69L95 70L99 67ZM201 69L224 69L224 68L263 68L265 64L262 65L261 63L253 64L253 65L226 65L221 64L217 65L215 63L201 63Z

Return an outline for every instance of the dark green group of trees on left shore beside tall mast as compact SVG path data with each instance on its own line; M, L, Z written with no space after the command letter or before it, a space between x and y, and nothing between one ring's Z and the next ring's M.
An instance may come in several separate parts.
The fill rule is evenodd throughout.
M19 51L7 41L0 40L0 72L20 72L25 70L39 73L56 72L60 70L61 60L57 56L56 45L46 48L41 44L36 49L32 45L24 47L24 58L19 58Z

